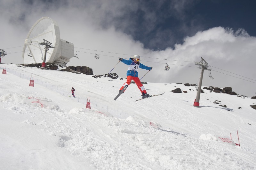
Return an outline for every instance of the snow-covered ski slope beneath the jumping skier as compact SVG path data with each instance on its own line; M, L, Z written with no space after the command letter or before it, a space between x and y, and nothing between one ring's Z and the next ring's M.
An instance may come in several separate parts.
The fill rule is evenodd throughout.
M0 64L1 73L4 66L0 169L256 168L254 99L204 90L198 108L195 87L148 82L149 94L165 93L135 102L141 94L131 84L115 101L125 78L15 64ZM179 87L188 93L170 92ZM230 133L233 143L219 138L231 141Z

